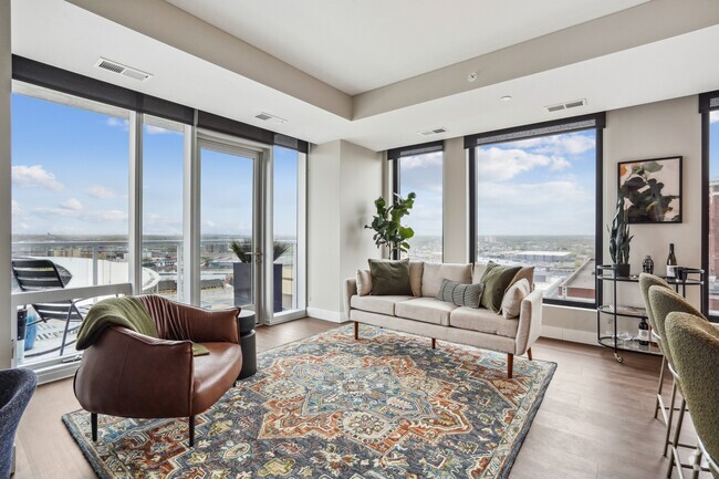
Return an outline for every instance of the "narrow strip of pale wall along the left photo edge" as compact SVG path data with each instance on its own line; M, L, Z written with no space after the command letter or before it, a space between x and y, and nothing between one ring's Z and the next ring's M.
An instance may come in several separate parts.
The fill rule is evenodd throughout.
M10 257L12 254L10 95L12 94L12 52L10 50L10 0L0 0L0 368L10 367L12 357L10 304Z

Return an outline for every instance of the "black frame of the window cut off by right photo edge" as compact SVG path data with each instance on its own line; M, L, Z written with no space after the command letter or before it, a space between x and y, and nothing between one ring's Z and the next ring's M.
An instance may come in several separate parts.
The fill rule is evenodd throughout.
M699 114L701 115L701 269L706 282L701 294L701 311L711 322L719 322L719 315L709 310L709 191L711 181L711 112L719 111L719 90L699 95Z

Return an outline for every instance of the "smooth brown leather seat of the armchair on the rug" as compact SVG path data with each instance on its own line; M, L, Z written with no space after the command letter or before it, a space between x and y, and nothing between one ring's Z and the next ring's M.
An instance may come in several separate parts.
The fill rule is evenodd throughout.
M192 414L209 409L235 384L242 368L239 344L204 343L210 354L195 356Z

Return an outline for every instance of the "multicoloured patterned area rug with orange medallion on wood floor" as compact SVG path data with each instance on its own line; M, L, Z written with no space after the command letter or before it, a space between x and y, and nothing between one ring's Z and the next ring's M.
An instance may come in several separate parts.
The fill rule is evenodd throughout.
M556 365L363 325L260 354L197 417L63 416L103 478L506 478Z

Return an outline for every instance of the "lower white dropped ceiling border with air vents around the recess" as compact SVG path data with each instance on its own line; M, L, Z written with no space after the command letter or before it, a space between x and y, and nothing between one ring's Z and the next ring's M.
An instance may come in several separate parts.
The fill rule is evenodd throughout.
M152 3L150 0L126 1L135 9L126 11L128 15L142 15L144 2ZM658 2L666 6L673 1L675 0L654 0L648 4ZM707 15L706 6L709 6L709 13L719 13L719 2L715 0L684 1L704 4L704 10L697 10L704 17L711 17ZM92 3L90 0L87 2ZM211 0L209 2L211 3ZM559 0L552 0L543 4L558 2ZM564 0L564 4L575 2L580 3L579 0ZM507 3L524 3L524 0L507 0ZM125 6L123 3L123 7L119 7L119 3L113 2L98 4L117 9ZM155 4L173 8L157 0ZM585 4L583 0L582 4ZM457 14L452 12L451 15L445 13L442 18L447 19L446 21L455 21L455 17ZM696 19L692 21L696 23ZM153 19L146 19L146 25L173 30L173 25ZM191 39L191 32L180 33ZM606 35L618 37L621 33L607 31ZM332 41L335 39L327 38L327 43ZM602 39L597 39L597 44L601 41ZM206 60L197 52L186 51L183 45L171 46L168 42L140 34L124 27L119 21L111 21L69 1L12 0L12 42L15 54L108 83L311 143L346 139L373 150L615 110L719 88L719 62L707 61L719 53L719 24L668 35L661 41L609 54L590 55L585 61L575 61L563 66L538 69L538 73L494 81L487 86L449 93L435 100L407 103L361 119L340 116L223 67L218 64L217 59ZM150 72L154 77L138 83L97 70L93 65L100 56ZM529 63L535 61L535 58L527 59ZM466 77L466 73L463 75ZM466 79L463 81L466 83ZM500 102L499 97L507 94L512 95L513 100ZM560 114L549 114L543 108L544 105L576 98L586 98L587 106ZM254 115L261 112L286 118L289 123L270 125L254 118ZM437 126L447 127L448 133L431 138L417 134Z

